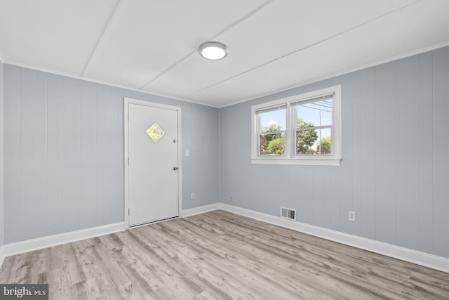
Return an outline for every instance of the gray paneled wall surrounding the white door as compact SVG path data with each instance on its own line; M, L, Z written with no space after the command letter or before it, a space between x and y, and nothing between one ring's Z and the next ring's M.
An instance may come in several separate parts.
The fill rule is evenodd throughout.
M216 108L13 65L3 82L5 243L123 221L124 97L182 107L184 209L218 201Z

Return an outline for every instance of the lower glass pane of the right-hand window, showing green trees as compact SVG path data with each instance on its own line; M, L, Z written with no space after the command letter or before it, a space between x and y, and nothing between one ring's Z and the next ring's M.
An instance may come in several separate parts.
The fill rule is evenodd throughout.
M297 155L330 155L331 129L300 130L296 133Z

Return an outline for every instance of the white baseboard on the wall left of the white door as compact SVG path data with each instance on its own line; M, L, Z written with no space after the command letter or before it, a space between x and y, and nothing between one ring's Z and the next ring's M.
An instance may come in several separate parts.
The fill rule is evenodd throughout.
M60 233L58 235L48 235L46 237L39 237L32 240L25 240L22 242L13 242L11 244L4 244L0 248L0 261L6 256L21 254L34 250L39 250L47 247L57 246L58 244L65 244L67 242L76 242L77 240L86 240L91 237L99 237L100 235L107 235L109 233L117 233L125 230L125 223L113 223L104 226L86 228L72 231L69 233ZM1 267L1 264L0 264Z

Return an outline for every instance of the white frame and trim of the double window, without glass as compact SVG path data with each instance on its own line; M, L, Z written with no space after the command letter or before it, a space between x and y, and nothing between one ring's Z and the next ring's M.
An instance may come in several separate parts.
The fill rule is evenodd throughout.
M332 125L330 126L332 143L330 155L297 155L297 105L301 102L333 93ZM260 117L257 112L272 107L286 105L286 130L284 155L260 155ZM302 93L267 103L251 106L251 163L253 164L299 164L317 166L340 166L342 160L342 124L341 124L341 86Z

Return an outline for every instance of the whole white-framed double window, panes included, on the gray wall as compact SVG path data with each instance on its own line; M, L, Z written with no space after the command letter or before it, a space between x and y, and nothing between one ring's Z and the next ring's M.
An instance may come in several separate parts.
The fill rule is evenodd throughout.
M254 164L338 166L341 87L251 107Z

